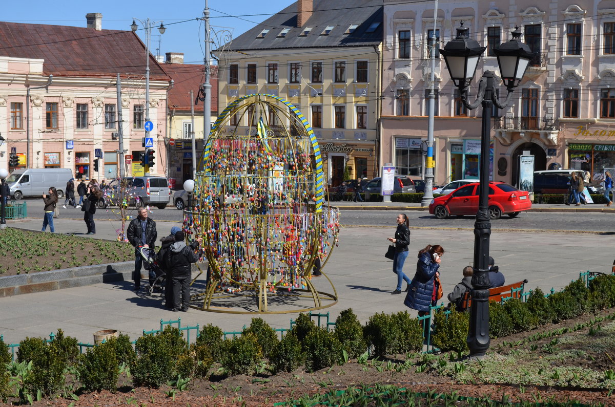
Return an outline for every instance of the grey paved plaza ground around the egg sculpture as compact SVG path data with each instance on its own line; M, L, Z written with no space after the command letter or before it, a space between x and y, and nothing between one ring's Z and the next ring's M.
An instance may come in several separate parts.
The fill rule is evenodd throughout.
M159 226L161 235L175 223ZM39 230L40 221L22 221L9 226ZM58 232L83 232L83 221L65 219L58 223ZM352 308L365 322L375 312L407 310L403 294L391 295L396 284L392 262L384 258L386 237L394 227L347 227L341 232L339 247L333 251L323 270L335 284L339 301L323 310L335 320L339 312ZM97 239L115 239L110 223L97 222ZM84 239L90 239L85 237ZM427 243L442 245L446 253L441 272L445 295L461 280L464 266L472 263L474 234L472 231L413 230L410 256L404 266L410 278L416 270L416 254ZM567 235L541 233L491 234L490 254L509 283L528 279L528 289L539 286L542 290L556 290L579 276L579 272L610 272L612 255L605 248L615 245L615 237L601 235ZM313 280L317 288L331 292L327 279ZM403 285L405 288L405 284ZM411 311L413 314L414 312ZM262 315L276 328L288 328L290 318L297 314ZM19 342L26 336L48 336L62 328L79 341L92 343L92 334L103 329L117 329L135 339L142 330L157 329L161 320L181 317L181 325L203 326L213 323L225 331L241 330L259 315L229 315L189 310L170 312L162 307L159 298L150 298L132 291L132 282L100 283L92 286L68 288L44 293L0 298L0 333L9 343Z

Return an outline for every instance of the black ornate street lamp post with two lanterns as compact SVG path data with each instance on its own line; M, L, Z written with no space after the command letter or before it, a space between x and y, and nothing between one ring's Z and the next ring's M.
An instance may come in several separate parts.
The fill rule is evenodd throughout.
M520 41L521 31L512 33L512 39L494 49L507 96L502 103L496 95L496 75L485 71L478 83L478 95L474 102L467 101L467 89L474 79L478 60L486 47L468 38L468 28L461 24L457 38L446 43L440 53L444 56L446 68L454 85L461 93L466 108L472 110L482 105L480 134L480 176L478 186L478 212L474 223L474 275L472 276L472 306L470 307L470 328L467 345L471 357L482 357L489 349L489 239L491 221L489 215L489 143L491 133L491 108L493 103L499 109L506 109L512 100L512 92L521 82L523 74L534 56L528 45Z

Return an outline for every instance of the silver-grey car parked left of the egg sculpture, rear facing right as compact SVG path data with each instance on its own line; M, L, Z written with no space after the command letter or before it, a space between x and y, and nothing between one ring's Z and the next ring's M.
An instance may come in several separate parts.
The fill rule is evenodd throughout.
M98 201L99 208L106 208L109 205L117 205L121 189L127 194L128 205L135 205L141 208L145 205L155 206L164 209L169 204L171 190L169 181L161 176L129 176L126 178L116 178L109 183L105 190L105 196Z

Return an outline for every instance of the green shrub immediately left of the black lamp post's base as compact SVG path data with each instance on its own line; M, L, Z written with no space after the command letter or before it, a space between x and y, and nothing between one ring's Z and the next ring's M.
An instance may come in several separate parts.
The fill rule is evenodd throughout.
M448 316L442 310L435 312L434 334L431 336L433 346L443 352L467 350L467 332L469 329L469 312L457 312L451 309Z

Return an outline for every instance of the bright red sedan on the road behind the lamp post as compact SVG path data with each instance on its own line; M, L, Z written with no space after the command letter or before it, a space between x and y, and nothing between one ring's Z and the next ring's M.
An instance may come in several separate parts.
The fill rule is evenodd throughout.
M503 214L514 218L521 211L532 207L530 194L501 181L489 183L489 216L499 219ZM429 213L438 219L449 215L476 215L478 211L478 183L455 189L448 195L434 198L429 204Z

